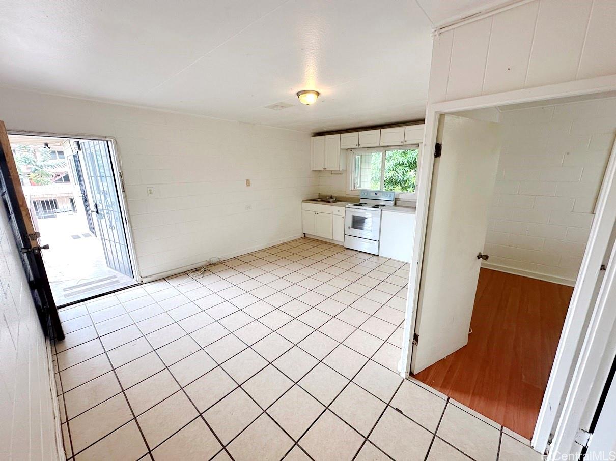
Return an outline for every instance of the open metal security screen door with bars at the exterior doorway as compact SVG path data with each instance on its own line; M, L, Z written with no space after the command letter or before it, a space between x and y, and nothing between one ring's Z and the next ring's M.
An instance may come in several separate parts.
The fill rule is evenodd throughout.
M116 189L108 141L79 141L91 185L90 210L99 227L107 266L133 277L120 199Z

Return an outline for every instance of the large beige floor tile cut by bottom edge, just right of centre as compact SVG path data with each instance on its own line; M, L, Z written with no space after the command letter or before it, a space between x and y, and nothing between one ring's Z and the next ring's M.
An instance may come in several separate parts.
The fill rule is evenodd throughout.
M363 437L351 426L326 410L302 437L299 446L315 461L351 461L362 442Z

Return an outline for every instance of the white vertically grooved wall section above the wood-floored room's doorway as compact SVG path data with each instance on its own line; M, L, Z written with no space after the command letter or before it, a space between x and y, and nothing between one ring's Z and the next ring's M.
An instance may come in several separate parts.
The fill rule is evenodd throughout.
M616 74L613 0L535 0L434 39L429 103Z

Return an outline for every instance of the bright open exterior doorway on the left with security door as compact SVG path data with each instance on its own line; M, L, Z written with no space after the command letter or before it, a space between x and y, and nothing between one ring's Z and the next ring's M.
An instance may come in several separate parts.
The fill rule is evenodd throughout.
M9 135L55 304L134 285L108 140Z

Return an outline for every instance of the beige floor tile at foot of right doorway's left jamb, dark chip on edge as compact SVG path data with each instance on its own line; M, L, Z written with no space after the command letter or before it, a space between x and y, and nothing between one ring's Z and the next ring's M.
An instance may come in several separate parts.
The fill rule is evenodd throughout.
M447 402L423 387L404 380L391 406L431 432L436 431Z

